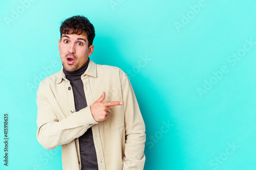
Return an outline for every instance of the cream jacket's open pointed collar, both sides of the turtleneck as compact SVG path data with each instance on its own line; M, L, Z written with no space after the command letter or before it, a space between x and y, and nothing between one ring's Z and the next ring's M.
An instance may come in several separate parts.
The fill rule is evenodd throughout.
M86 72L84 72L84 74L82 74L81 77L83 76L92 76L92 77L97 77L97 70L96 70L97 65L90 59L88 67L86 69ZM58 78L57 78L57 84L61 83L62 79L64 80L68 80L66 78L66 75L63 72L63 66L61 67L61 70L58 72Z

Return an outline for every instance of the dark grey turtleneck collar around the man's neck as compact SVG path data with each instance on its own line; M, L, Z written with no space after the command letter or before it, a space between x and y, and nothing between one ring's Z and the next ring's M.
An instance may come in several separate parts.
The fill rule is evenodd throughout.
M71 80L77 80L77 79L81 79L82 74L84 74L84 72L86 71L88 64L89 64L89 58L88 61L83 64L79 69L75 70L75 71L67 71L64 67L63 67L63 73L66 75L66 78L71 81Z

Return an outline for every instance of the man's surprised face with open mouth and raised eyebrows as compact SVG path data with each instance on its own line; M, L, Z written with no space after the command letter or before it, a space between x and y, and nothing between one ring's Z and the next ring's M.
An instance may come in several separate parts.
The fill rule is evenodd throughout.
M59 55L63 67L67 71L75 71L88 61L94 46L88 47L88 39L85 35L62 34L59 40Z

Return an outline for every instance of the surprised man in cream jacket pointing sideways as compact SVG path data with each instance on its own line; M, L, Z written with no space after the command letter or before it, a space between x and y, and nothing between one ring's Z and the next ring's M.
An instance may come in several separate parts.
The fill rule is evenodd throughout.
M145 126L133 88L121 69L89 59L94 37L84 16L62 22L63 67L37 90L37 139L49 150L62 145L63 169L143 169Z

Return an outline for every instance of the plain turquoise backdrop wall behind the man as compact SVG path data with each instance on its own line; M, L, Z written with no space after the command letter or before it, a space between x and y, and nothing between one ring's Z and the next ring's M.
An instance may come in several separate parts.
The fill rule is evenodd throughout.
M144 169L256 169L255 5L1 1L0 168L61 169L60 147L36 139L36 90L61 69L61 21L79 14L96 30L91 60L129 75L146 125Z

